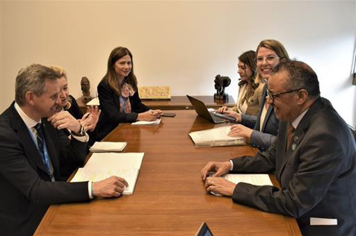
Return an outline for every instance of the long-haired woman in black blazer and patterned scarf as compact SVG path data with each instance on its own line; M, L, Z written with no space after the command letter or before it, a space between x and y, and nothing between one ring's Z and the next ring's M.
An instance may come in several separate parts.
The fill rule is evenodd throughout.
M97 86L102 114L97 124L97 140L102 140L118 124L152 121L161 110L149 110L138 96L137 79L129 49L117 47L108 58L106 75Z

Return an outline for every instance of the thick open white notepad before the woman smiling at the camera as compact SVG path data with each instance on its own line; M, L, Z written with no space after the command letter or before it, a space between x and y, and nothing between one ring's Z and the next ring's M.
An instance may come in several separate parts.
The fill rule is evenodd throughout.
M230 137L231 126L222 126L189 133L196 147L245 145L244 137Z

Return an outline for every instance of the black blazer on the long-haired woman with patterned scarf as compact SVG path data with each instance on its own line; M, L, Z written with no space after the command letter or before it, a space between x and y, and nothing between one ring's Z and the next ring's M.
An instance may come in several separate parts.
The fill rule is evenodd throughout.
M97 124L97 140L102 140L120 123L131 123L136 121L138 113L149 110L138 96L138 91L130 96L131 113L120 112L120 96L115 94L105 81L97 85L97 93L100 101L102 113Z

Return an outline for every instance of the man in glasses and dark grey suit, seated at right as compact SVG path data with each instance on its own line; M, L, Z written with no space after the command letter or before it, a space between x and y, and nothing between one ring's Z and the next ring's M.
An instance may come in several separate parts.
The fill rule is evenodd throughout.
M303 235L356 234L356 144L345 121L321 98L304 62L282 62L268 80L268 103L280 119L276 142L256 156L209 162L207 191L236 203L296 217ZM207 177L209 171L216 171ZM275 173L281 188L235 185L227 172Z

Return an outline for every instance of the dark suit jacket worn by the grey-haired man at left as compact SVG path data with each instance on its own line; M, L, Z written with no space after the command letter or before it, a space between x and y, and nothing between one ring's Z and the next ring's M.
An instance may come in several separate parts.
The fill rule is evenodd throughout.
M89 200L88 182L60 181L63 165L83 163L86 143L42 122L54 183L13 104L0 115L0 235L33 235L49 204Z

